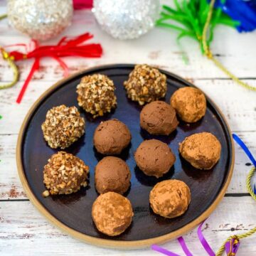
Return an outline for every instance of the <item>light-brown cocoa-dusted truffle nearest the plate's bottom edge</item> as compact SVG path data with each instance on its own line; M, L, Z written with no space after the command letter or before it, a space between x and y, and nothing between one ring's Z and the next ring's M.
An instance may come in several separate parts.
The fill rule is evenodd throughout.
M132 205L119 193L101 194L92 205L92 220L97 229L110 236L120 235L132 223Z

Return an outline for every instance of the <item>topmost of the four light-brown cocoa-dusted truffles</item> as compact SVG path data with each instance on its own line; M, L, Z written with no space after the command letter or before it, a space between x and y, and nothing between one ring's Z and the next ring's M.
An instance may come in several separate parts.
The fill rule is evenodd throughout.
M171 106L184 122L197 122L206 114L206 97L193 87L182 87L171 96Z

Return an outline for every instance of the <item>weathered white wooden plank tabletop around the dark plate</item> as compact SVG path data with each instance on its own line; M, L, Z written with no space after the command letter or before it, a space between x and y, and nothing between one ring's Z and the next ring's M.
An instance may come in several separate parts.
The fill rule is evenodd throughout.
M0 14L6 11L0 1ZM93 41L102 44L104 55L99 59L65 58L71 73L109 63L149 63L191 80L215 101L224 112L233 132L237 133L256 156L256 92L245 90L227 78L210 60L201 55L198 44L189 38L182 41L189 64L182 60L176 45L176 32L155 28L134 41L118 41L103 32L90 11L76 11L73 25L48 43L56 43L65 35L77 36L89 31ZM0 22L0 46L28 43L29 38L12 29L7 20ZM220 26L212 44L217 58L241 80L256 86L256 32L239 34ZM160 255L149 248L144 250L108 250L87 245L53 227L33 207L18 178L16 168L16 139L21 122L33 102L63 75L58 63L50 58L41 62L28 85L20 105L15 100L31 68L31 61L18 63L21 78L15 87L0 90L0 255ZM0 81L12 77L6 63L0 59ZM250 170L249 160L235 145L235 170L228 191L218 208L206 221L203 233L217 250L229 235L242 233L256 225L256 202L245 188L245 177ZM194 255L206 255L198 242L196 231L184 235ZM256 255L256 235L242 240L238 255ZM163 245L183 255L176 240Z

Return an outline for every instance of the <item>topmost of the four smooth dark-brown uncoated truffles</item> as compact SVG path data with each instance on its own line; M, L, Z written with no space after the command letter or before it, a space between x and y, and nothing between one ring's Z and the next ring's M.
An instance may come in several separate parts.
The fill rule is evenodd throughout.
M178 126L178 120L171 105L157 100L143 107L140 113L140 125L150 134L169 135Z

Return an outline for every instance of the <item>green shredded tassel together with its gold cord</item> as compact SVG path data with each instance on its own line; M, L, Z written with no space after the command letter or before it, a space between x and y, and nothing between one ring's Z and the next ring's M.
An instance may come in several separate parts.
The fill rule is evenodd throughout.
M174 2L176 4L176 10L169 6L163 6L164 11L161 12L161 18L156 21L156 25L174 28L180 31L177 38L178 41L184 36L194 38L200 43L202 53L210 60L213 60L220 70L223 70L226 75L242 87L256 91L256 87L242 82L239 78L230 73L230 71L213 57L213 53L210 50L210 42L213 41L213 29L216 24L223 23L228 26L238 26L240 22L233 21L228 16L223 16L220 8L214 9L215 0L210 0L210 4L208 4L206 0L184 0L182 4L178 4L177 0L174 0ZM221 2L225 3L225 0L221 0ZM169 20L181 23L182 27L167 23L166 21ZM207 36L207 34L209 35Z

